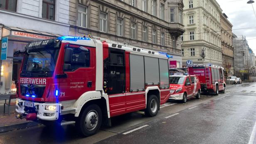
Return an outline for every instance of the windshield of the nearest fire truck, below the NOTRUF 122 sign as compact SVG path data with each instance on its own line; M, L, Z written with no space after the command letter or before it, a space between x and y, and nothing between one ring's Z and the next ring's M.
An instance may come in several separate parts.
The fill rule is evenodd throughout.
M59 49L30 49L25 54L21 77L52 77Z

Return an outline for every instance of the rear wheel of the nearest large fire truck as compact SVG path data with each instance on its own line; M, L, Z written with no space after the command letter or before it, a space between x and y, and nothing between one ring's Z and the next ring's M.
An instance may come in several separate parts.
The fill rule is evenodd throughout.
M155 95L149 95L147 99L147 108L145 110L145 115L148 117L154 117L158 114L159 101Z

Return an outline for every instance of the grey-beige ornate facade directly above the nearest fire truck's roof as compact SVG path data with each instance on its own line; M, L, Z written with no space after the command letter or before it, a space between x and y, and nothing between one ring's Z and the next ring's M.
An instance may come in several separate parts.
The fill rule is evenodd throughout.
M182 0L70 0L70 33L163 51L181 67Z

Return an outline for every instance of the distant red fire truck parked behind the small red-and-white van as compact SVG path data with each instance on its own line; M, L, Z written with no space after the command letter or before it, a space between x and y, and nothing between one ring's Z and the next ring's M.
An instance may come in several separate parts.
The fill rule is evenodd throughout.
M226 87L223 69L214 65L189 65L188 74L198 76L202 92L219 95L219 91L225 93Z

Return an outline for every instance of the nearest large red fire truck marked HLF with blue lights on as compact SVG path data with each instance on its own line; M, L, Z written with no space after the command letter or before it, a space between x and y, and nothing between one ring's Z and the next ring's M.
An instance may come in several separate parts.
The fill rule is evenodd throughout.
M35 41L25 49L17 118L76 124L90 136L117 115L144 110L153 117L170 97L163 52L83 37Z

